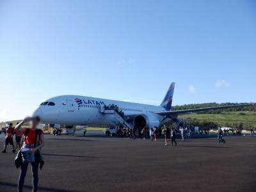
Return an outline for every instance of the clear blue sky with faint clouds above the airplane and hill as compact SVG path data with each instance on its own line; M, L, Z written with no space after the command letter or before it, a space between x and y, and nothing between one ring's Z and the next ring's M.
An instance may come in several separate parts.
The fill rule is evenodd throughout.
M0 1L0 122L56 95L255 102L256 3Z

